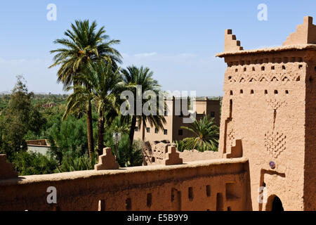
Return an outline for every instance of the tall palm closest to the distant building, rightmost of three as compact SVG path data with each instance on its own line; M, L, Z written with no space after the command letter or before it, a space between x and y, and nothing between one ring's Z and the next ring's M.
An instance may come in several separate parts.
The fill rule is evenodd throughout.
M152 78L153 72L150 71L149 68L137 68L135 65L131 65L124 70L121 70L123 74L123 80L126 84L133 85L141 85L142 92L145 91L153 91L156 96L159 96L160 85L157 80ZM134 105L136 106L136 86L133 86L130 89L134 94ZM143 94L141 93L141 94ZM142 108L146 101L142 100ZM156 105L157 106L157 105ZM158 111L158 107L157 111ZM164 124L166 123L166 119L163 115L136 115L136 107L134 107L133 115L131 115L131 129L129 131L129 145L133 145L133 138L136 128L136 122L138 124L142 123L143 127L146 127L146 123L149 123L151 127L155 127L157 129L164 129Z

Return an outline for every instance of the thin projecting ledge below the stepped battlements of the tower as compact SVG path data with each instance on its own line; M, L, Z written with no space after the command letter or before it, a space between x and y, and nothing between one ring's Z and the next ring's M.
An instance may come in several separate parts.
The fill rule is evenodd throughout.
M225 51L223 53L216 54L216 57L223 58L225 56L236 56L236 55L247 55L254 53L273 53L279 51L293 51L293 50L305 50L312 49L316 50L316 44L297 44L297 45L287 45L287 46L277 46L265 49L252 49L252 50L242 50L242 51Z

